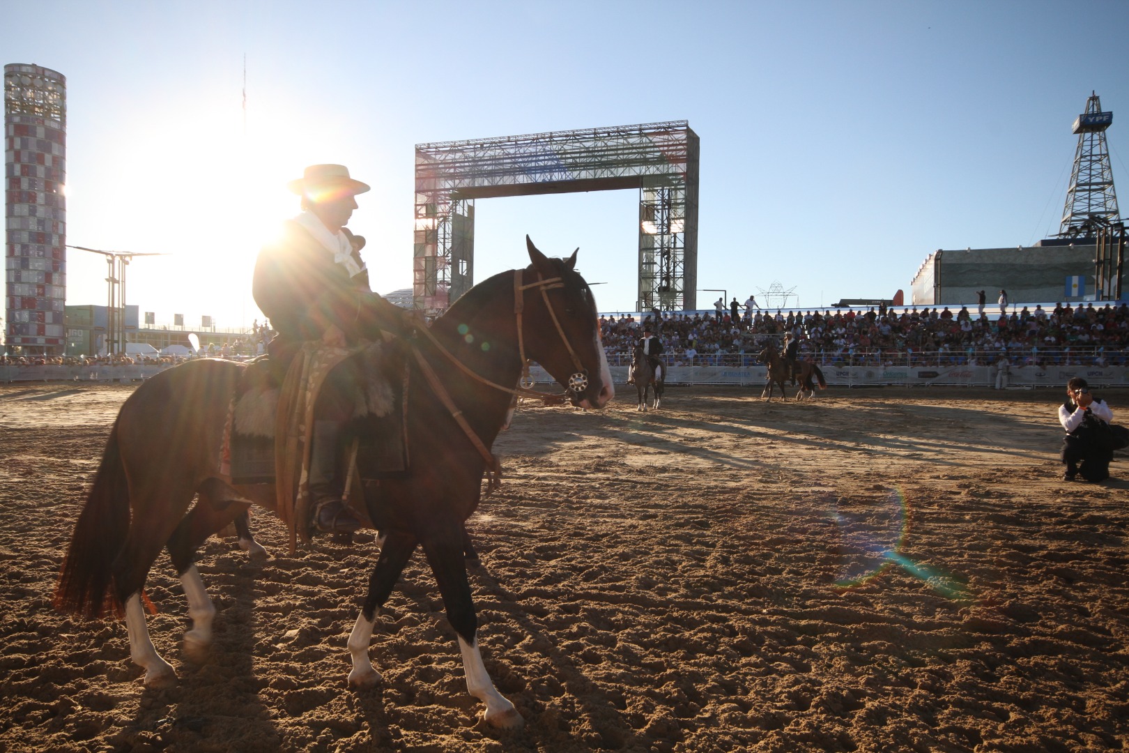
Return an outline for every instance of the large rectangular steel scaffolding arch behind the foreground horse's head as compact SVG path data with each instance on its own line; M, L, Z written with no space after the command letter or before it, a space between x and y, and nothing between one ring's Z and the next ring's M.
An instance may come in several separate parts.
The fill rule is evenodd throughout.
M445 309L474 283L474 200L639 190L640 310L695 307L698 135L686 121L415 146L412 301Z

